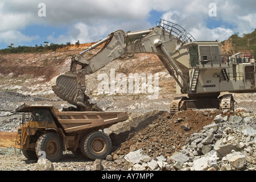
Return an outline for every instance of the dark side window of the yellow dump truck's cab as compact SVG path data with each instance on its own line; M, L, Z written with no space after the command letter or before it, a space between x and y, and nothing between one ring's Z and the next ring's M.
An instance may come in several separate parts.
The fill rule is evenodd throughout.
M35 109L31 113L32 121L53 122L53 118L48 109Z

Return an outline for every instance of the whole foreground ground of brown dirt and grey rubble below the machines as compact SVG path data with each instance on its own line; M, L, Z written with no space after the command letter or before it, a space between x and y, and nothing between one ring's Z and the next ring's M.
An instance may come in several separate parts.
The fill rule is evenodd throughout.
M194 121L190 120L191 130L185 131L181 126L188 122L189 114L194 115ZM0 148L0 167L31 171L255 171L255 150L256 120L252 113L180 111L170 117L163 112L152 124L113 146L106 159L92 161L65 152L60 162L36 162L9 147Z

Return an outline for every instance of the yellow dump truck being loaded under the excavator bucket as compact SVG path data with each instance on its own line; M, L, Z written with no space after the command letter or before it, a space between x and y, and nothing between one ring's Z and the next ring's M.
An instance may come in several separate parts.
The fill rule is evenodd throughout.
M89 159L104 159L112 150L112 141L103 133L115 123L126 121L121 111L59 111L54 106L23 104L16 109L22 113L15 148L27 159L56 162L63 151L82 154Z

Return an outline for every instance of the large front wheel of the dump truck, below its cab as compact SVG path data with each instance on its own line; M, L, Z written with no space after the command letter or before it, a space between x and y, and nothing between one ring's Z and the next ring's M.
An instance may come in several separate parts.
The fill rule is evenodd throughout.
M46 152L46 159L57 162L63 155L63 143L59 135L55 133L45 133L36 142L36 154L40 151ZM40 152L42 154L42 152ZM40 157L40 155L38 156Z

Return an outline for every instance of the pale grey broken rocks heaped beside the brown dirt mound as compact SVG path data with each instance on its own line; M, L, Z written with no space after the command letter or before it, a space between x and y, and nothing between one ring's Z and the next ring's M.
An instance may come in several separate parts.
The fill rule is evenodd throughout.
M182 113L184 114L184 111ZM218 114L213 119L214 122L192 133L181 150L175 151L172 155L159 152L159 155L150 157L147 155L148 145L145 145L142 147L144 150L139 148L131 151L123 158L133 164L129 170L254 171L256 170L255 115L229 114ZM177 115L174 118L179 121Z

